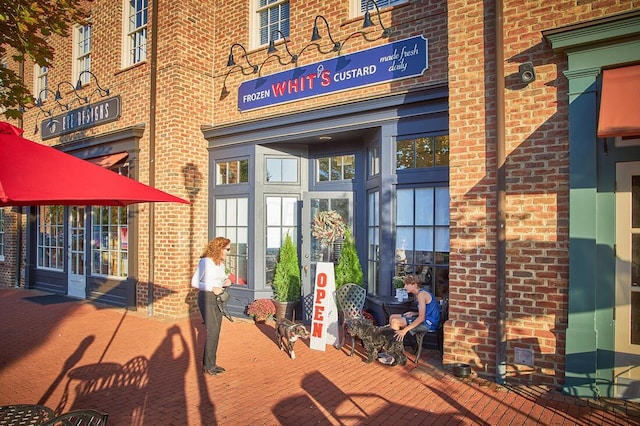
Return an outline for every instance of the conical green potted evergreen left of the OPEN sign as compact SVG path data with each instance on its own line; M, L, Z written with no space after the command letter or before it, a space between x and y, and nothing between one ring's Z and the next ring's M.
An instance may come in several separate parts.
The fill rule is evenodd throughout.
M293 310L300 301L301 281L298 251L289 234L280 247L271 286L276 301L276 318L293 319Z

